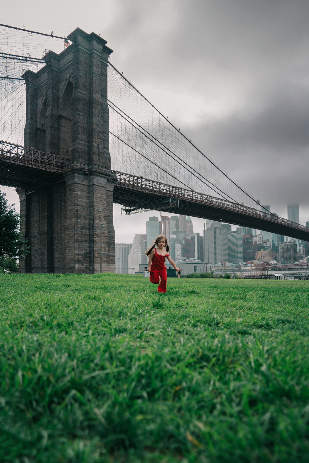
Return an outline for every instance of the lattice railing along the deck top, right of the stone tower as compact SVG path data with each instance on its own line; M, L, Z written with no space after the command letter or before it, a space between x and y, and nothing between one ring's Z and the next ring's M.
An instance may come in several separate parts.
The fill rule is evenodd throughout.
M125 174L123 172L115 172L118 179L118 184L126 186L127 188L137 189L140 191L146 191L149 193L161 194L166 196L172 196L177 199L189 199L203 204L217 205L225 209L233 209L237 212L245 213L246 215L252 215L253 217L259 217L261 219L267 219L274 223L280 223L283 225L290 225L298 230L309 232L309 228L304 225L297 224L292 220L283 219L271 213L259 211L252 207L245 206L233 201L224 200L222 198L216 198L215 196L209 196L208 194L198 193L194 190L187 190L181 187L174 187L165 183L160 183L155 180L149 180L143 177L137 177L131 174Z

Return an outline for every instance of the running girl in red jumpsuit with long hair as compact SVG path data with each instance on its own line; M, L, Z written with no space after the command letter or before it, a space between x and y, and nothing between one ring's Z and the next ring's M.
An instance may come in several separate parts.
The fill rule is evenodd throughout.
M156 247L157 246L157 247ZM165 249L166 250L165 250ZM174 269L178 272L175 262L170 258L168 254L170 250L169 245L167 244L167 239L164 235L159 235L153 246L146 250L146 256L149 256L148 261L148 272L150 272L150 281L157 285L158 283L158 292L166 293L166 283L167 283L167 273L165 267L165 257L172 264Z

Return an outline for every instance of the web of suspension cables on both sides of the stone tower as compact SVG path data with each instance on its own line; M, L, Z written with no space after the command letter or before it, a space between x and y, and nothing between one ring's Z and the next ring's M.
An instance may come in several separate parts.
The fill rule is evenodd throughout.
M0 139L23 144L25 85L64 38L0 25ZM112 63L108 68L112 169L256 208L259 204L158 111ZM258 206L258 209L260 206Z

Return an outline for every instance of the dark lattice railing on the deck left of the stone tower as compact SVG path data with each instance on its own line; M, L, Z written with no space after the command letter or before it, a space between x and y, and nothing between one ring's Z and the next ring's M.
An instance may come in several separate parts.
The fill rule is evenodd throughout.
M68 159L0 140L0 160L50 172L63 172Z

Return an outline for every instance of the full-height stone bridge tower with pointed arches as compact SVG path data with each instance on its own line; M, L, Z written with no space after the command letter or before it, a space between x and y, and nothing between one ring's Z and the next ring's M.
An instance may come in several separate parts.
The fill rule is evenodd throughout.
M67 158L63 181L19 190L22 232L32 246L21 272L115 270L113 189L108 143L107 60L112 52L95 33L76 29L72 44L44 56L23 75L25 146ZM40 171L38 171L40 175Z

